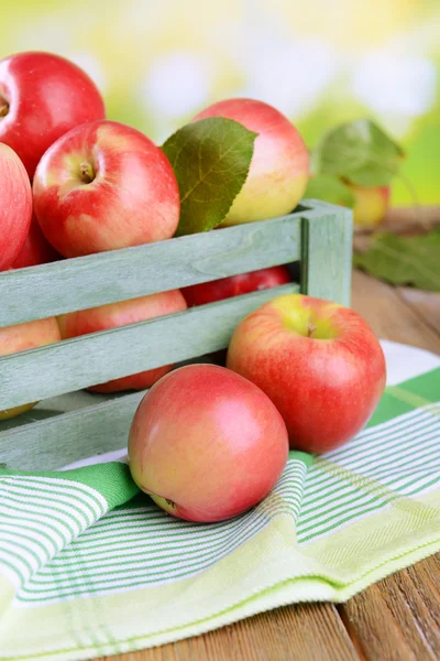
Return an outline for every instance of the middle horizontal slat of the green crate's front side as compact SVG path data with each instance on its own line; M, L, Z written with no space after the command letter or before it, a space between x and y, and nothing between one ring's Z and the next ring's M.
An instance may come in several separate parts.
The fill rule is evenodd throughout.
M178 362L228 346L237 324L285 284L0 358L0 410Z

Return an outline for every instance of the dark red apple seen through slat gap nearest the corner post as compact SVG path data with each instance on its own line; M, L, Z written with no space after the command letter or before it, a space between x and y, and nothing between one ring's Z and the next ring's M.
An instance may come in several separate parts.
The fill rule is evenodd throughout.
M240 273L212 282L194 284L182 290L189 306L205 305L222 299L241 296L251 292L278 286L290 282L290 274L286 267L272 267L250 273Z

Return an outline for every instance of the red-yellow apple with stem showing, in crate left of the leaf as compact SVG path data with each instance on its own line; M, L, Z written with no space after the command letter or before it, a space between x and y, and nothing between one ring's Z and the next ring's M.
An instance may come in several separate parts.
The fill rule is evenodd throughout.
M169 239L179 219L177 181L164 152L114 121L84 123L52 144L33 194L46 239L65 257Z

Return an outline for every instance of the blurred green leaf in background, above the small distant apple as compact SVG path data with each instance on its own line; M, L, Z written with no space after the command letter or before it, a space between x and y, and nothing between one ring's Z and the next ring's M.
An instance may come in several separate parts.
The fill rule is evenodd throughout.
M312 164L319 174L332 174L360 186L386 186L404 155L381 127L359 119L326 133L314 152Z

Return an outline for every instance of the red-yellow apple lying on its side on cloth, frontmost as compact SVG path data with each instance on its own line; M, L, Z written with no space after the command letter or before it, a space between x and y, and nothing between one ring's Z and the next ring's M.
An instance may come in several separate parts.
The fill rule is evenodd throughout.
M138 486L188 521L235 517L260 502L287 460L286 425L253 383L217 365L189 365L142 400L129 437Z

